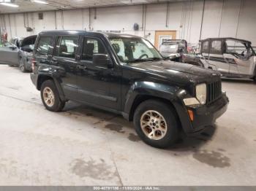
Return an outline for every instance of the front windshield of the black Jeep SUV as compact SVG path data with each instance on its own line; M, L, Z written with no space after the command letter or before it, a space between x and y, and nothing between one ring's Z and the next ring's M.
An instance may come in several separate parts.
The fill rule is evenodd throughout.
M143 38L111 37L110 43L121 62L132 63L162 59L155 47Z

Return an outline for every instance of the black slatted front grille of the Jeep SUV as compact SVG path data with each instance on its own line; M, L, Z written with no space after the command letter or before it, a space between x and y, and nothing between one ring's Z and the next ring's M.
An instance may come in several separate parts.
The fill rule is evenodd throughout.
M206 104L211 104L222 95L222 82L211 82L207 84L207 101Z

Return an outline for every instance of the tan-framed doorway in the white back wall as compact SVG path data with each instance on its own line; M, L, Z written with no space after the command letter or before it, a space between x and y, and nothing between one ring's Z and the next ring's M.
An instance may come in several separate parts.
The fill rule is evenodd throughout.
M154 46L159 50L160 45L167 39L176 39L176 31L156 31L154 35Z

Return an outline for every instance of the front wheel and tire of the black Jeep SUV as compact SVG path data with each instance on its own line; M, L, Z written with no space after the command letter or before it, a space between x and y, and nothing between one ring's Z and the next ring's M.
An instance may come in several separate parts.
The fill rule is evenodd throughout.
M140 139L152 147L170 147L178 139L175 111L162 101L144 101L136 109L133 119Z

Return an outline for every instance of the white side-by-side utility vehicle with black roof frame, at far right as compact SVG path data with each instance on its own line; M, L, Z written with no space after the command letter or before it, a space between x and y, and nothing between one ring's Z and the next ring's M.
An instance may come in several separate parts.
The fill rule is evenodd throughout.
M256 80L256 56L251 44L244 39L203 39L197 58L205 68L219 71L223 77Z

